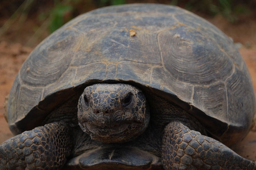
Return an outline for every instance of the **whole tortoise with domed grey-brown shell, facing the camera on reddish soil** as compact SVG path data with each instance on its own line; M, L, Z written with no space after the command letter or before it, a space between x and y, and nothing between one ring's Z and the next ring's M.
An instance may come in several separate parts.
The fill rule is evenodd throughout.
M179 7L104 7L30 54L7 105L1 169L255 169L229 147L253 123L232 40Z

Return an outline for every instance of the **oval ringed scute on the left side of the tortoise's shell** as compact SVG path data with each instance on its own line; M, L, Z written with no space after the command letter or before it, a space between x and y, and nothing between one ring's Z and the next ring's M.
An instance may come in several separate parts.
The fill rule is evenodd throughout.
M23 63L20 69L22 83L45 87L56 82L69 68L79 36L79 33L70 29L51 34Z

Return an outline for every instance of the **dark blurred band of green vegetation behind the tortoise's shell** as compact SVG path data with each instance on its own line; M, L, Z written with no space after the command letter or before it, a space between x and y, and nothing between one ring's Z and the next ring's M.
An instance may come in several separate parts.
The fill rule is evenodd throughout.
M196 13L221 15L232 23L238 22L239 16L249 15L256 9L256 0L2 0L0 16L9 15L10 18L0 28L0 34L10 28L13 22L18 20L22 23L28 16L37 17L44 26L48 25L51 33L79 14L99 7L125 3L177 5Z

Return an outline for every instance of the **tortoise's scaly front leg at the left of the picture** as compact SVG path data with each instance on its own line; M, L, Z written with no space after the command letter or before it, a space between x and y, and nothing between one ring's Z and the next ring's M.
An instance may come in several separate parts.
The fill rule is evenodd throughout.
M71 147L66 123L36 127L0 145L0 169L57 169L65 164Z

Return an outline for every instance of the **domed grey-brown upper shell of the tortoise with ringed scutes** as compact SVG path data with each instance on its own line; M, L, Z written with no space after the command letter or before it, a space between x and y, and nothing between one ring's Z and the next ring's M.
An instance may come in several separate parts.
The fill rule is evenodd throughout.
M226 145L255 113L250 74L218 28L179 7L104 7L71 20L22 65L9 96L14 134L39 126L69 97L98 82L125 82L173 101Z

